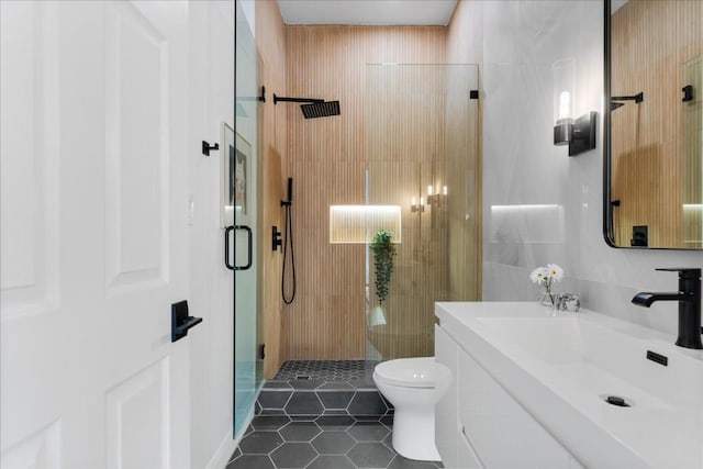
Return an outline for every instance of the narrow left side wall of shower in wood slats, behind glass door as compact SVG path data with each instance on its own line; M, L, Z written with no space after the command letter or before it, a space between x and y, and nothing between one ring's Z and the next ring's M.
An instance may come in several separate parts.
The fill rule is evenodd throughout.
M270 379L280 368L284 353L284 335L281 334L281 300L280 300L280 252L270 248L271 226L281 228L282 199L282 166L286 160L287 114L280 107L274 107L270 90L286 93L286 33L284 25L272 1L256 2L256 34L257 47L263 59L260 74L261 82L267 88L267 99L264 109L264 125L261 126L261 145L259 154L259 226L260 233L258 270L259 337L266 344L264 360L264 378ZM278 109L277 109L278 108Z

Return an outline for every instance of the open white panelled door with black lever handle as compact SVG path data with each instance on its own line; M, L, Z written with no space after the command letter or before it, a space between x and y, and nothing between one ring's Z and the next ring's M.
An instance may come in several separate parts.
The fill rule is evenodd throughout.
M0 8L0 466L187 467L188 4Z

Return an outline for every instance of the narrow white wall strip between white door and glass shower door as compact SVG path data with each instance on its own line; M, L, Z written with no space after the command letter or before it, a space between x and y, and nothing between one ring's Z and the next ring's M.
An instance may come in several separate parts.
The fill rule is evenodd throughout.
M234 119L234 1L190 2L190 310L202 316L191 342L192 468L224 467L235 448L233 413L233 279L223 265L220 142ZM222 144L221 144L222 145Z

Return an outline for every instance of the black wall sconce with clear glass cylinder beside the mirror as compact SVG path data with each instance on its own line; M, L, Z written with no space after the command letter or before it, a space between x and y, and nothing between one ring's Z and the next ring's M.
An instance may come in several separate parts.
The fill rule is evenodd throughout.
M554 144L569 145L569 156L595 148L595 112L573 119L576 59L565 58L551 66L554 74Z

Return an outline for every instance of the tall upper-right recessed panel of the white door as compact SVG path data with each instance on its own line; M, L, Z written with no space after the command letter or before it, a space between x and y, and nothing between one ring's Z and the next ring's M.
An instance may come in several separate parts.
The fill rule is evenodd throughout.
M168 47L130 3L105 25L105 214L109 288L166 280ZM147 196L147 197L145 197Z

